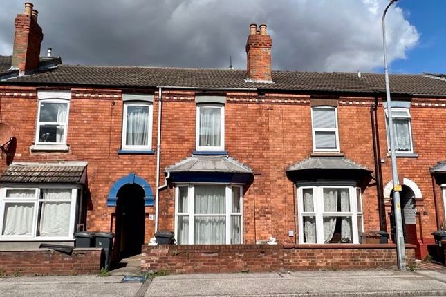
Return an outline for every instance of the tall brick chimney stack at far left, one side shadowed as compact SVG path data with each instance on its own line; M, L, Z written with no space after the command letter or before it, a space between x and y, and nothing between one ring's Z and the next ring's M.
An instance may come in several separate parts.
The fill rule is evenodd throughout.
M39 12L33 10L32 3L25 3L23 14L15 18L14 50L12 52L12 67L21 73L39 66L40 46L44 34L37 23Z

